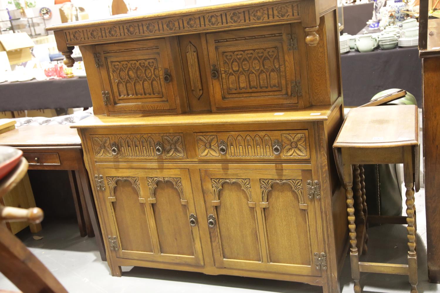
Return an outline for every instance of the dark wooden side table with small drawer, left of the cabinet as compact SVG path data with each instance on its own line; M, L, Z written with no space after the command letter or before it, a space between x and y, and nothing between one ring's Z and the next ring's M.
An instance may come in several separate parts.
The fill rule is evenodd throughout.
M94 237L96 233L101 259L106 260L77 130L59 124L22 126L0 134L0 145L21 149L29 162L29 170L68 171L80 234Z

